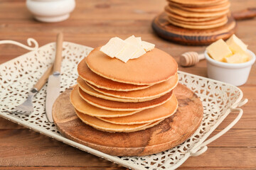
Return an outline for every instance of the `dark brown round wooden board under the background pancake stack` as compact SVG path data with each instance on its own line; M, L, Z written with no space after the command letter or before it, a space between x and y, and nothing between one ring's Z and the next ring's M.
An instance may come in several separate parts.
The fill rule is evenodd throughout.
M226 40L233 35L235 33L235 20L232 16L228 16L228 23L218 28L186 29L172 25L167 21L166 13L161 13L154 18L152 28L157 35L166 40L184 45L209 45L220 38Z

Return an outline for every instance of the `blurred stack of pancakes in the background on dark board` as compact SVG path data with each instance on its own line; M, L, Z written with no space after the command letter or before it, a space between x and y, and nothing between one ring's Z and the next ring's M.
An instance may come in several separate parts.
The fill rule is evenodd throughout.
M217 28L228 22L228 0L167 0L169 23L190 29Z

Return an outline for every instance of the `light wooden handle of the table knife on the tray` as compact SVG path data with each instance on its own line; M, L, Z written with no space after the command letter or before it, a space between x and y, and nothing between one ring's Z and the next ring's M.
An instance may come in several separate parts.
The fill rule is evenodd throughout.
M63 33L58 33L57 41L56 41L56 54L55 54L53 73L60 72L62 50L63 50Z

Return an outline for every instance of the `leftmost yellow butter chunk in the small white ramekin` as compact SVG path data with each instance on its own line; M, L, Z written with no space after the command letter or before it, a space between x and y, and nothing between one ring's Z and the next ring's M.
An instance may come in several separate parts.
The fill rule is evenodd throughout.
M228 45L225 43L225 41L223 41L223 39L213 42L206 48L206 50L213 60L219 62L223 62L225 57L230 57L233 55L232 51L229 49Z

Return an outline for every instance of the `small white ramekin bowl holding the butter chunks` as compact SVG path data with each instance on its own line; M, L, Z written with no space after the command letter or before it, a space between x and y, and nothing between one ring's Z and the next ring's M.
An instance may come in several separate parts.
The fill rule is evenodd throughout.
M242 84L245 84L249 77L252 64L255 63L255 54L250 50L247 50L247 52L251 56L248 62L230 64L213 60L208 55L207 51L205 51L204 55L207 61L208 77L210 79L223 81L235 86L241 86Z

